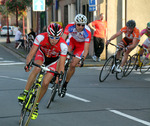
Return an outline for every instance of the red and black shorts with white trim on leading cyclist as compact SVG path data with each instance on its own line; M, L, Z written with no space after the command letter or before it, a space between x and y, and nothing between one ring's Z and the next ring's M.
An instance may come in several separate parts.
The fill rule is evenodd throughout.
M47 66L50 70L56 71L57 61L59 57L46 57L44 53L39 49L35 56L36 60L41 60L45 66ZM50 73L50 72L48 72ZM54 76L54 73L51 73Z

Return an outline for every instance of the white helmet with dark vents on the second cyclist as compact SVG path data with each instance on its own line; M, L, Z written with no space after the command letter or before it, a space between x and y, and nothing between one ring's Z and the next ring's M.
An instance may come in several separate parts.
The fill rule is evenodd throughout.
M87 23L87 18L83 14L77 14L74 18L74 21L76 24L86 24Z

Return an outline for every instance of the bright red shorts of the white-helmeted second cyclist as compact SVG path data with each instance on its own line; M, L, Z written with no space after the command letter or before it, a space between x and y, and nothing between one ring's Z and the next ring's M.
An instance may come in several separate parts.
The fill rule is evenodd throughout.
M68 38L66 42L67 42L67 45L70 46L71 51L74 50L73 54L77 58L81 59L81 57L84 53L84 43L85 42L77 42L73 37Z

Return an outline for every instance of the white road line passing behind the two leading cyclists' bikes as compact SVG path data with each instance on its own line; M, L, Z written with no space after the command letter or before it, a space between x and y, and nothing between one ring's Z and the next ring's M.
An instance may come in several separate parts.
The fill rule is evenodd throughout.
M8 77L8 76L0 76L0 77L1 77L1 78L8 78L8 79L14 79L14 80L19 80L19 81L27 82L27 80L21 79L21 78L14 78L14 77ZM48 88L48 89L51 89L51 88ZM91 102L91 101L89 101L89 100L86 100L86 99L77 97L77 96L72 95L72 94L66 93L66 95L67 95L68 97L71 97L71 98L74 98L74 99L77 99L77 100L80 100L80 101L83 101L83 102Z

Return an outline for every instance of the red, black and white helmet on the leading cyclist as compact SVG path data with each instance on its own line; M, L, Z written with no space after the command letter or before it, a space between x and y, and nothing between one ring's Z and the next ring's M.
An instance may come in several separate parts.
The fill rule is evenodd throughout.
M47 28L47 33L49 36L59 37L62 34L63 28L57 23L52 23Z

